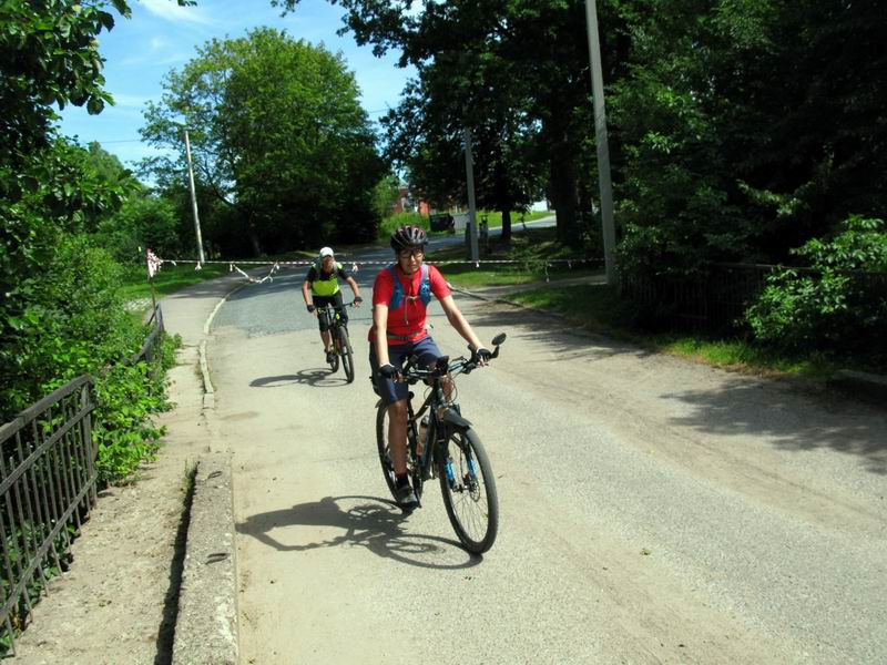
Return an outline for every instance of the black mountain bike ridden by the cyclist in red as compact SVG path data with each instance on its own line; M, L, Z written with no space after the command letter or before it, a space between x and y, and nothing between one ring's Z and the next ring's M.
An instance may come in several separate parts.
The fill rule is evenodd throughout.
M499 346L504 341L501 332L493 338L496 347L492 358L499 356ZM412 392L409 393L409 420L407 421L407 471L412 488L421 504L422 484L432 478L440 479L443 505L456 530L456 535L469 552L480 554L492 548L499 529L499 499L492 467L480 438L471 422L462 418L456 398L453 377L477 369L479 359L473 350L471 358L439 358L431 369L416 367L414 356L401 372L410 385L425 381L429 386L418 412L412 409ZM451 382L447 397L441 379ZM422 418L428 412L427 417ZM395 468L388 448L388 409L379 401L376 413L376 442L385 482L392 497L395 492Z

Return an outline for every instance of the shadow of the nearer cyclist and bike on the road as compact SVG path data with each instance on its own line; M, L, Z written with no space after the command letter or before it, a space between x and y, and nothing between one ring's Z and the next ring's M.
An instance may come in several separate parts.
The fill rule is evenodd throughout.
M339 503L347 504L344 508ZM437 535L407 533L404 514L392 501L377 497L324 497L289 509L249 515L236 525L237 533L249 535L281 552L305 552L322 548L360 545L384 559L425 569L459 570L479 564L483 557L462 550L455 541ZM317 542L287 543L277 540L273 530L290 526L332 526L343 533ZM458 562L452 560L457 553Z

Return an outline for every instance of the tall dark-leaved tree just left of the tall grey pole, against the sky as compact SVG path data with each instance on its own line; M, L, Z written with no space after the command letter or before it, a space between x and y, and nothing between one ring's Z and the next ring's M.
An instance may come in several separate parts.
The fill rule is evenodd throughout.
M292 10L297 0L273 3ZM416 131L438 132L438 147L428 144L425 153L417 150L415 161L450 155L447 161L453 164L451 155L458 154L455 127L471 127L483 143L478 149L479 162L486 166L490 198L508 201L524 192L544 168L558 235L565 243L577 243L581 213L587 212L580 208L580 193L590 191L582 183L594 180L592 172L581 171L593 132L584 2L448 0L425 3L419 14L412 13L409 4L338 3L346 9L345 24L359 44L371 44L376 54L399 49L399 63L412 64L420 72L421 85L407 91L402 112L390 119L402 124L400 139ZM623 4L628 3L611 0L601 11L608 79L623 66L629 43L620 13ZM416 108L417 89L420 98L430 98L427 103L435 109L448 109L447 126L410 123L408 112ZM514 158L527 155L532 158L531 167L513 173ZM453 177L446 177L442 168L435 173L436 168L421 165L424 172L428 170L428 177L421 177L426 187L430 191L437 180L441 192L453 191ZM495 205L508 208L502 203ZM584 205L590 207L590 202Z

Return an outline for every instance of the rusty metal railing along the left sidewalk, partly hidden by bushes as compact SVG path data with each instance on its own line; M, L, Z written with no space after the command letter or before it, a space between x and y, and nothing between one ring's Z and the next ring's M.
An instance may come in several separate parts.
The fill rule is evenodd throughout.
M129 365L161 371L163 314ZM93 379L82 376L0 427L0 656L12 649L47 582L67 567L96 499Z

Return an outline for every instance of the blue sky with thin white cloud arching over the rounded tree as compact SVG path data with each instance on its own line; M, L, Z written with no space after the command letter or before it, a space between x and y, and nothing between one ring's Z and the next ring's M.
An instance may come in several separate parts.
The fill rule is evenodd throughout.
M375 58L370 47L358 47L350 33L336 35L343 10L325 0L302 0L294 13L281 17L269 0L197 0L196 7L179 7L174 0L133 0L132 18L115 14L116 25L99 37L105 59L108 91L116 101L99 115L85 109L62 112L61 131L78 136L81 143L98 141L128 166L133 161L156 154L140 142L142 109L147 100L159 100L166 72L181 70L196 55L196 47L212 38L237 38L252 28L269 25L295 39L324 43L341 51L355 73L361 103L371 120L387 106L397 104L411 69L396 66L396 54Z

